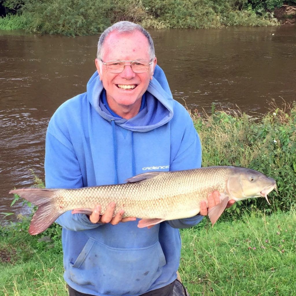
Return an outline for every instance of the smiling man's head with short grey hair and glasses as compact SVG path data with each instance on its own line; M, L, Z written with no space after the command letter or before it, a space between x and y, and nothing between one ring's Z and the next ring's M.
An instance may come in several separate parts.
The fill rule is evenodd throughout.
M114 61L115 64L121 63L120 70L113 69L117 66ZM132 61L139 63L133 62L132 65ZM121 116L122 110L131 112L129 118L136 115L141 97L152 79L156 62L151 36L140 25L118 22L104 31L98 42L96 68L113 111ZM143 66L139 67L138 64Z

